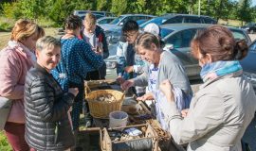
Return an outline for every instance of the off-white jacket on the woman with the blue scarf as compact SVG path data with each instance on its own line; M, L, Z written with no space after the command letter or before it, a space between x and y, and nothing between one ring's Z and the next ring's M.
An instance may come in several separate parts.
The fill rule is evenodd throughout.
M189 143L188 150L241 151L256 96L246 77L229 75L204 83L194 94L186 118L174 102L162 109L175 143Z

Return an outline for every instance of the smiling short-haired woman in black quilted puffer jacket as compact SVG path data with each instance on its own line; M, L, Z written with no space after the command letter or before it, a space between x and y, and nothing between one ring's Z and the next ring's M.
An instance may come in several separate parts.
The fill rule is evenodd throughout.
M46 36L36 43L37 63L26 76L25 139L31 150L67 150L75 144L68 110L78 88L63 92L50 74L61 58L61 42Z

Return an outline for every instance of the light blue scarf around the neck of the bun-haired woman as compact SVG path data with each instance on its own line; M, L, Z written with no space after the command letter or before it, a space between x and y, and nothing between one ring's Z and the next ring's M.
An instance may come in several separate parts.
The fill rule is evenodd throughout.
M207 63L202 67L200 76L204 82L209 79L215 79L219 76L227 76L232 73L243 72L242 66L238 60L223 61L219 60Z

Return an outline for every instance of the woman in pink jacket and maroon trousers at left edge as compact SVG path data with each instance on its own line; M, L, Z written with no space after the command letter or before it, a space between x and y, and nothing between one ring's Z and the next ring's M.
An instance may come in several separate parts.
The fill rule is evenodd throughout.
M27 151L25 141L24 84L27 71L34 65L35 45L45 31L27 20L18 20L8 46L0 52L0 96L12 100L5 126L8 141L14 151Z

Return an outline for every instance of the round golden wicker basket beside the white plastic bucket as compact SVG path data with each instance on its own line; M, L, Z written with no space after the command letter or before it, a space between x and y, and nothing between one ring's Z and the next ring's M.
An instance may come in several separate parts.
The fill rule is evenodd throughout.
M111 94L115 97L116 101L108 103L96 101L95 99L100 95ZM122 101L124 99L123 92L114 90L100 90L89 92L86 96L86 100L89 104L90 113L94 118L107 119L110 112L120 110Z

